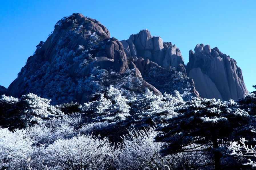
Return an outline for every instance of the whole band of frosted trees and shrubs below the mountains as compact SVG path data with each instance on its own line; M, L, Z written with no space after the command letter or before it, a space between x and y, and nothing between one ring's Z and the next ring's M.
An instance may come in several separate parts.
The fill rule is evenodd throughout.
M110 86L82 105L50 101L1 96L0 169L256 166L255 148L247 147L255 145L256 93L239 101L184 101L178 92L124 96Z

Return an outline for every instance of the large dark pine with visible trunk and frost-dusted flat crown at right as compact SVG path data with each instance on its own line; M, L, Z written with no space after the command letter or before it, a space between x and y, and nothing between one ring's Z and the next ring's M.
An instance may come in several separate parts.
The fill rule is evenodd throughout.
M238 108L233 100L194 99L178 111L180 114L159 127L157 142L165 142L162 154L200 151L205 148L214 156L215 169L221 169L223 141L239 139L241 131L249 132L252 117ZM192 144L197 144L192 146ZM203 147L204 146L204 147ZM221 145L222 146L222 145Z

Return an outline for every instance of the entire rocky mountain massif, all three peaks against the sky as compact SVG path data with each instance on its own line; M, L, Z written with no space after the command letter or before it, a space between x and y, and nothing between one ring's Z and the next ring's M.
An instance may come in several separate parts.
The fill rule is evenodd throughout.
M237 100L248 92L236 61L217 47L197 45L185 66L178 47L149 30L119 41L99 21L82 14L59 20L36 47L8 95L34 93L62 104L87 102L110 85L128 98L146 89L156 95L179 91L184 99Z

